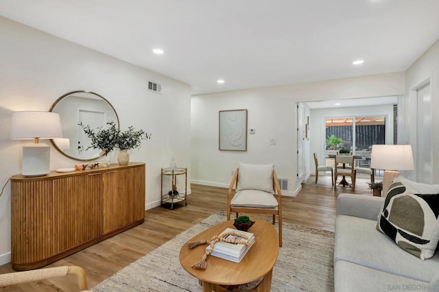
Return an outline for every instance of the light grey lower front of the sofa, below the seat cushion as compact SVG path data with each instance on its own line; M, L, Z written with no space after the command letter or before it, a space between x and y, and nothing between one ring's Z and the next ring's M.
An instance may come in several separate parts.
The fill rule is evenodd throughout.
M427 291L429 283L340 260L334 267L334 287L337 292Z

